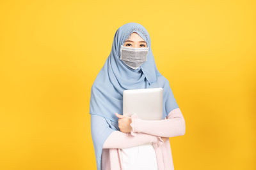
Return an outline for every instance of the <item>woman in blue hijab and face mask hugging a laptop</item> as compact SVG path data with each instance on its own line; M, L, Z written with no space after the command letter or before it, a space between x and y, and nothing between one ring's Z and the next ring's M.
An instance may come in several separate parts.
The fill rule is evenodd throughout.
M129 49L138 54L139 48L147 53L120 55ZM157 87L163 88L163 120L122 115L124 90ZM92 85L90 115L98 170L174 169L169 138L185 134L185 121L169 81L157 70L142 25L127 23L115 32L111 53Z

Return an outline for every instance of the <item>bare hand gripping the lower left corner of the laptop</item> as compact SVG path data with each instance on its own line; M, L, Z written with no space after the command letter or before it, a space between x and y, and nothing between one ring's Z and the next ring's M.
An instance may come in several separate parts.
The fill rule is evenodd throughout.
M118 117L118 127L120 129L121 132L124 133L129 133L132 131L132 127L131 127L131 122L132 119L131 117L126 117L124 115L119 115L118 113L115 113L116 117Z

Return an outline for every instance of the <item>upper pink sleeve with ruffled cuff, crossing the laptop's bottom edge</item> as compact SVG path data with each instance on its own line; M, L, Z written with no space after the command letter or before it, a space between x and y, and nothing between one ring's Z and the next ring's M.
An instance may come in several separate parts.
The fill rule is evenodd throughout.
M137 115L132 115L132 132L133 136L138 135L136 132L143 132L154 136L171 138L185 134L186 125L180 108L175 108L164 120L142 120ZM135 134L135 135L134 135Z

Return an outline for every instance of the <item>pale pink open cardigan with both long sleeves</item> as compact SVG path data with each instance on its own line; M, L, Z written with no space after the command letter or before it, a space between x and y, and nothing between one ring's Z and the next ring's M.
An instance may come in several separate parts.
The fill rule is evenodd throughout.
M168 114L164 120L141 120L132 115L132 132L112 132L106 139L102 149L102 170L121 170L121 148L152 143L156 152L159 170L173 170L172 151L169 139L163 142L161 137L182 136L186 125L180 108Z

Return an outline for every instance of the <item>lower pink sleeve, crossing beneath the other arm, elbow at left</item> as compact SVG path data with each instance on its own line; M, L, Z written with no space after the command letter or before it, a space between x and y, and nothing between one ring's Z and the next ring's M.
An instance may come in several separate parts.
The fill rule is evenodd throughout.
M150 134L139 133L136 136L131 136L130 133L114 131L109 135L108 139L106 139L103 148L129 148L145 143L156 143L157 145L161 145L163 140L160 137L152 136Z

